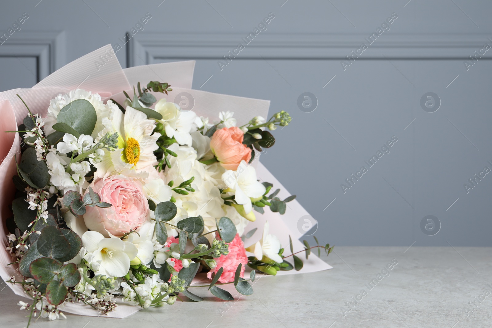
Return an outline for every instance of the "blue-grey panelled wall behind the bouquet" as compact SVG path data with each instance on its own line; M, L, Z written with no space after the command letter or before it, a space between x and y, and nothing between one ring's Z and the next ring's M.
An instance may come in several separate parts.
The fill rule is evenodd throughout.
M105 44L123 47L149 12L117 52L123 66L195 59L195 89L288 111L292 122L262 162L317 219L319 239L491 246L492 175L468 193L463 186L492 169L492 50L468 70L463 63L492 46L491 10L490 1L465 0L6 2L0 34L23 13L29 19L0 45L0 89L30 87ZM221 70L217 61L271 12L267 30ZM344 70L340 61L395 12L390 30ZM297 105L303 92L317 99L310 113ZM427 92L440 98L434 113L420 105ZM369 168L364 161L393 136ZM344 193L340 184L362 166L368 172ZM440 222L434 236L421 230L427 215Z

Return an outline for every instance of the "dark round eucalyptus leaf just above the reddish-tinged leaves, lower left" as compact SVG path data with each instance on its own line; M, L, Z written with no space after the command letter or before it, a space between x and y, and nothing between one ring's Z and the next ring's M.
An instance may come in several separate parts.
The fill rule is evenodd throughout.
M37 245L39 253L54 259L62 259L70 252L70 242L56 226L43 228L39 239L37 239Z

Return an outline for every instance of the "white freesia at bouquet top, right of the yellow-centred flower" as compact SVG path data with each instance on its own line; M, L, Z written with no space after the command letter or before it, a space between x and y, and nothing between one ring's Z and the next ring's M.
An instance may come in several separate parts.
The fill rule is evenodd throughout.
M160 99L154 106L155 111L162 115L160 122L164 125L166 135L174 138L180 145L191 146L191 128L196 114L192 111L183 112L175 103Z

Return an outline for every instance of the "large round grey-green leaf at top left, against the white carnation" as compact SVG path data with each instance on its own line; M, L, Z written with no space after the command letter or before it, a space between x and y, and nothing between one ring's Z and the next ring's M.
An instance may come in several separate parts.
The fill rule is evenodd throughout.
M94 106L86 99L77 99L62 108L57 122L67 124L80 134L91 135L97 115Z

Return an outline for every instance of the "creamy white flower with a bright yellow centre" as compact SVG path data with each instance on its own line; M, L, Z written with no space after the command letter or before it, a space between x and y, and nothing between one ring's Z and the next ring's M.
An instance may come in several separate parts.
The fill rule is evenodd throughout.
M112 119L105 121L106 128L118 132L118 149L104 150L101 162L95 164L98 178L114 174L147 178L155 171L157 160L154 150L160 133L154 133L155 121L134 108L126 107L125 114L118 108L112 110Z

